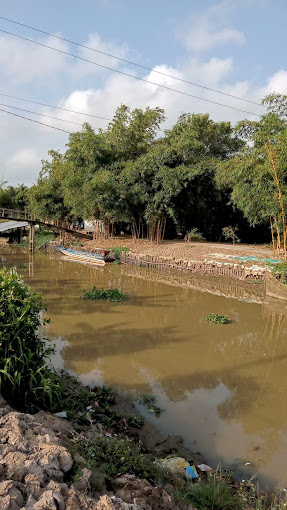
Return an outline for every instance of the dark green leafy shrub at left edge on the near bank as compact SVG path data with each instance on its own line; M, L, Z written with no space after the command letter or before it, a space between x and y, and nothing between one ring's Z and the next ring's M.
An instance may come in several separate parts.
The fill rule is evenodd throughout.
M14 269L0 271L0 391L21 410L53 409L60 385L47 365L52 351L38 335L41 295L31 292Z

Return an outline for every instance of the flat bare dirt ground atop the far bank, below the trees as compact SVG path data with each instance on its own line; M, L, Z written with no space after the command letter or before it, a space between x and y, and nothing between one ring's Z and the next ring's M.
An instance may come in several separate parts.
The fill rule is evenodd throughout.
M85 248L90 251L95 248L109 249L124 246L138 255L157 255L174 260L226 260L228 256L247 256L261 258L278 258L268 245L248 245L229 243L194 243L184 241L163 241L160 244L146 240L116 237L112 239L87 241ZM226 257L227 256L227 257ZM254 262L253 262L254 263Z

